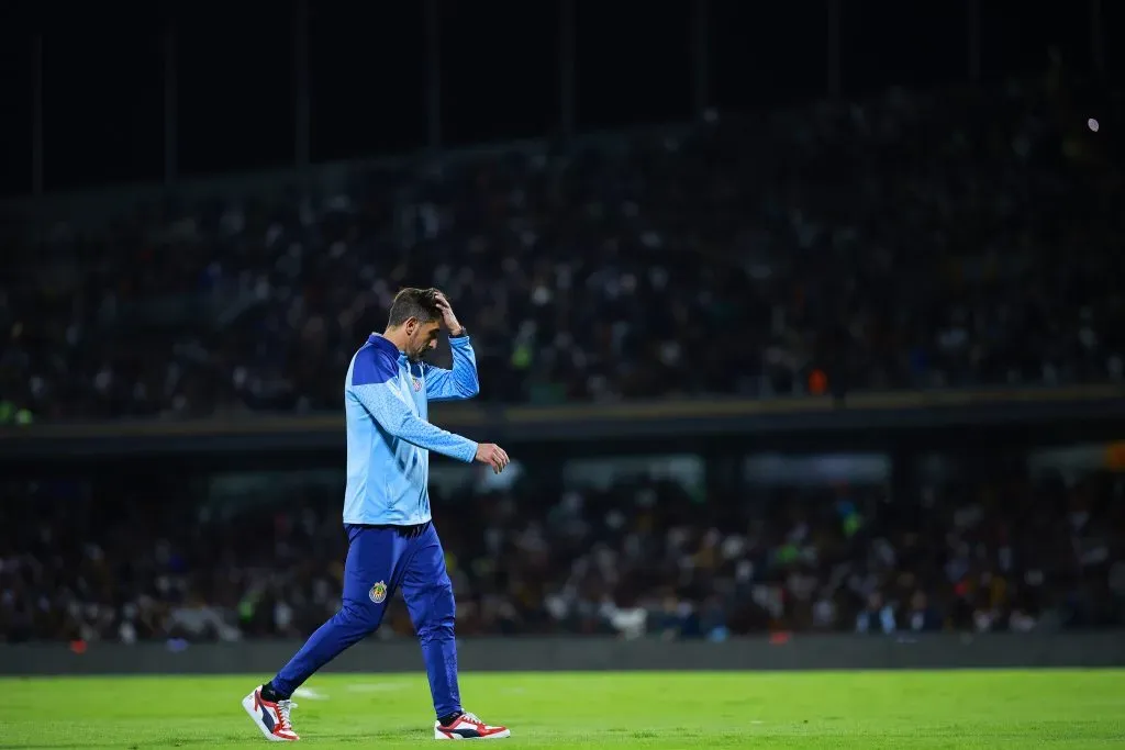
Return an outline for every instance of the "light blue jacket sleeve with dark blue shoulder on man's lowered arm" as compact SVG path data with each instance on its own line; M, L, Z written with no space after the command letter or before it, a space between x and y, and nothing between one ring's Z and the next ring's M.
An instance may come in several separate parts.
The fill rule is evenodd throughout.
M396 362L385 361L378 353L363 354L352 369L351 392L384 430L412 445L466 463L476 458L475 442L434 426L411 410L398 385Z

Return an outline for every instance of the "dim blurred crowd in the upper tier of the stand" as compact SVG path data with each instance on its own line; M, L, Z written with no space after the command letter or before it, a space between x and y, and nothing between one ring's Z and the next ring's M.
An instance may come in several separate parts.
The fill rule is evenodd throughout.
M60 225L0 286L0 417L335 409L399 286L493 401L1120 379L1090 148L1036 85L892 91Z

